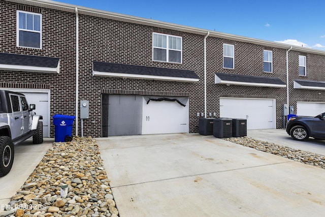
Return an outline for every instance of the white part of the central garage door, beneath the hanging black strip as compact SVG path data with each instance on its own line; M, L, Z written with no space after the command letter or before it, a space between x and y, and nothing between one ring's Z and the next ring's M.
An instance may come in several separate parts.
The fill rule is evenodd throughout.
M142 134L188 133L188 105L143 99Z

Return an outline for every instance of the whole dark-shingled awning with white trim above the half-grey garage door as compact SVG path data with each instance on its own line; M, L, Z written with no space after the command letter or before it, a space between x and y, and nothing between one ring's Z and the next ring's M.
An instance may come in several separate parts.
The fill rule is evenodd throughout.
M191 70L146 67L98 61L93 62L92 75L183 82L199 81L199 76Z

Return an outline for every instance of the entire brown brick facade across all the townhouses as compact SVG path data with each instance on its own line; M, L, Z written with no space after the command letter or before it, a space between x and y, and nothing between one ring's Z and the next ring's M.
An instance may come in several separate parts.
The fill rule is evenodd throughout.
M42 49L16 46L16 11L42 14ZM50 116L56 113L75 115L76 107L76 14L49 8L24 6L0 1L0 52L58 57L60 73L1 71L0 88L49 89ZM182 64L152 60L152 33L182 37ZM189 97L189 132L198 132L197 112L204 112L204 38L203 34L154 27L79 14L79 101L89 100L89 119L85 119L84 135L102 136L102 94L165 95ZM244 41L244 40L243 40ZM223 68L223 43L235 46L235 69ZM271 44L272 45L272 44ZM235 73L280 78L286 82L286 49L258 43L207 38L207 113L219 116L220 97L276 99L276 127L282 128L282 105L286 103L286 88L220 85L214 83L214 73ZM273 51L273 72L263 72L263 50ZM289 51L290 105L297 101L325 102L322 90L293 88L294 79L323 81L323 55L305 52L307 76L298 75L299 51ZM199 82L158 81L94 77L93 61L192 70ZM319 94L320 93L320 94ZM296 109L296 108L295 108ZM52 119L51 119L52 121ZM78 126L80 134L80 123ZM54 128L51 126L51 136Z

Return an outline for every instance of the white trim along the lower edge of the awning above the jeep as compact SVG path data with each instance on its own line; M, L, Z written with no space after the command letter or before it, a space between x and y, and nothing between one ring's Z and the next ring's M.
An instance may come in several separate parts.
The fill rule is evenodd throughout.
M57 74L59 74L60 73L60 60L58 61L56 68L0 64L0 70L24 71L24 72L43 72L43 73L57 73Z

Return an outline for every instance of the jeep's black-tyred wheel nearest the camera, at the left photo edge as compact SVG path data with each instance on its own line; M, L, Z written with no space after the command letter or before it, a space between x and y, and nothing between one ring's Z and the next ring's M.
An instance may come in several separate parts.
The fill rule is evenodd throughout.
M10 172L15 156L14 144L10 137L0 136L0 154L0 176L5 176Z

